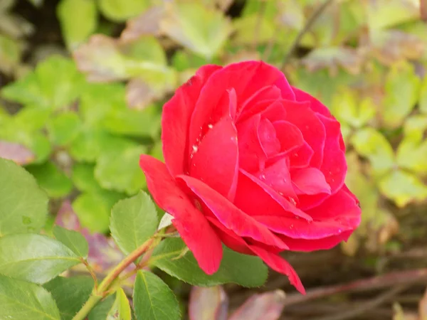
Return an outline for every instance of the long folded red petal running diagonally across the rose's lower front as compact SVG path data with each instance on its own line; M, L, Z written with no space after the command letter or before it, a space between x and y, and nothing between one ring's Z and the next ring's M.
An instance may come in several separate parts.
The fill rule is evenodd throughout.
M233 203L205 183L190 176L178 176L178 178L186 183L226 228L233 230L241 237L253 238L267 245L280 247L283 250L288 248L268 228L234 206Z

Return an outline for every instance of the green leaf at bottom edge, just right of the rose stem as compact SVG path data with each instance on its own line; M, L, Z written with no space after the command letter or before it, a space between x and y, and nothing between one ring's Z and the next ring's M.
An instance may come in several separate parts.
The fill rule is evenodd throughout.
M138 320L179 320L174 292L152 272L142 270L135 281L133 302Z

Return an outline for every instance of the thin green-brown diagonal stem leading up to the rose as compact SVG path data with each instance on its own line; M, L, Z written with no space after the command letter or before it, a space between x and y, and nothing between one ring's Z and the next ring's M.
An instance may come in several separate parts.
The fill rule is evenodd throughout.
M112 282L119 277L120 273L123 272L132 262L137 260L154 242L154 236L149 238L149 240L145 241L142 245L137 247L136 250L130 252L130 254L125 257L118 265L115 266L113 270L111 270L107 277L105 277L100 283L99 287L95 288L90 295L88 301L83 305L82 309L78 311L78 313L74 316L73 320L84 320L86 316L88 316L90 310L100 302L100 299L105 297L105 293L110 288Z

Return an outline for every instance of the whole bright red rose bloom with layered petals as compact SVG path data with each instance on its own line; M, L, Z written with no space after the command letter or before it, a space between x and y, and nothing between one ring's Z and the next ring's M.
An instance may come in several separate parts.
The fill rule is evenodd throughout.
M359 225L339 122L271 65L201 67L164 105L162 142L165 163L142 155L140 166L206 274L222 242L304 293L279 252L330 249Z

